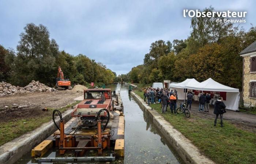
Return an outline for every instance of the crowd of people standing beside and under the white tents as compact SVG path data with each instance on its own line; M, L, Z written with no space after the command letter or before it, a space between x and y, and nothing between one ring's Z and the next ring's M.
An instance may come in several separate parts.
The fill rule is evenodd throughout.
M151 104L161 103L162 110L161 113L165 113L167 111L168 105L170 106L171 113L176 114L176 108L177 108L177 90L168 90L168 89L155 89L152 87L147 87L144 89L144 101L149 106ZM187 108L189 105L189 110L191 110L193 100L193 93L192 91L188 91L187 94ZM199 110L198 112L209 112L210 108L210 100L211 95L208 93L202 93L199 97ZM214 120L214 126L216 126L216 122L218 119L218 116L221 117L221 127L223 127L223 113L226 112L225 110L226 106L223 103L223 98L219 97L218 100L214 104L214 114L216 115ZM205 110L204 110L205 109Z

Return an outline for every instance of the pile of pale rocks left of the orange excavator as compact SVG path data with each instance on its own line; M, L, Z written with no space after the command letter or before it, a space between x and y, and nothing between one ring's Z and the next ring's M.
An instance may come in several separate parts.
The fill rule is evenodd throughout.
M19 87L11 85L7 82L0 83L0 97L5 95L14 95L17 93L32 93L32 92L56 92L57 90L49 86L40 83L39 81L32 80L29 85L25 87Z

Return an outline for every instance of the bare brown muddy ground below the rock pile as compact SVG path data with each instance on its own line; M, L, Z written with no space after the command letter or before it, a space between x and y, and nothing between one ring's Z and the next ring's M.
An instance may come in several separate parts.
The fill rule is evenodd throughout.
M82 92L63 90L56 93L25 93L0 97L0 122L48 115L42 111L42 108L61 108L76 102L74 98L82 94ZM20 105L27 107L17 108ZM4 108L5 106L8 108Z

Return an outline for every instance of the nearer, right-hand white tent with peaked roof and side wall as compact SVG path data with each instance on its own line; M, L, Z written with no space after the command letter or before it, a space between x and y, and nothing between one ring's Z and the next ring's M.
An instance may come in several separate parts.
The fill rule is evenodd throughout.
M201 91L226 92L226 100L223 100L224 104L226 105L226 109L238 110L239 89L222 85L211 78L208 78L206 81L203 81L199 84L190 83L185 87L187 89L201 90Z

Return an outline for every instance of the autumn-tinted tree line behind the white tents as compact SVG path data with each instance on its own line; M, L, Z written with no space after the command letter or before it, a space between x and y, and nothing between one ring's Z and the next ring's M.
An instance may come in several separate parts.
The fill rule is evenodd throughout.
M204 11L214 11L213 7ZM217 17L193 17L191 34L185 40L157 40L144 56L143 65L125 76L135 83L152 84L195 78L212 78L224 85L242 88L242 57L239 53L256 40L256 27L248 31L232 23L217 23ZM223 19L223 18L219 18Z

